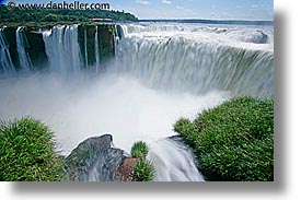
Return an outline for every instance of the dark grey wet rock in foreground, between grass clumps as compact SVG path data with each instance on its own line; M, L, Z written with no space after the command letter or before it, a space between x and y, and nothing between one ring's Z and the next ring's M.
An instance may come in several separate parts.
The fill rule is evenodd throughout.
M111 148L112 136L89 138L66 157L66 179L71 181L114 181L126 156Z

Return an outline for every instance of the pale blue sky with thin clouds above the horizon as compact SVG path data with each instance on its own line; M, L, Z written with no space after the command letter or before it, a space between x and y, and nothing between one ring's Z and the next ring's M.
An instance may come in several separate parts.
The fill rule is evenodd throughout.
M15 0L19 2L49 2L50 0ZM62 2L63 0L53 0ZM268 20L274 19L273 0L79 0L109 3L113 10L124 10L141 19L210 19ZM4 1L8 2L8 1ZM68 0L73 2L73 0Z

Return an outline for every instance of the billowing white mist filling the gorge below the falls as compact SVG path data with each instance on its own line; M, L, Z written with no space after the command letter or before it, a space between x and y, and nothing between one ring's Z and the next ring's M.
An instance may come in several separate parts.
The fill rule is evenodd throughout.
M180 117L194 118L228 98L157 91L127 75L31 74L0 81L0 119L31 116L55 133L57 150L68 154L89 137L112 133L116 148L130 151L137 140L152 142L175 134Z

